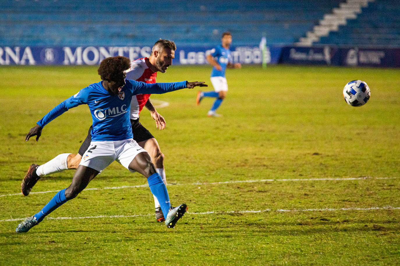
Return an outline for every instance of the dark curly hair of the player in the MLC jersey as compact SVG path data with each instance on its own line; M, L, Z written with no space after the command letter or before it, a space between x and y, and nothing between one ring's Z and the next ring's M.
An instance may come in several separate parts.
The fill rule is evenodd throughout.
M118 81L121 73L130 68L130 59L124 56L107 57L97 69L100 78L106 81Z

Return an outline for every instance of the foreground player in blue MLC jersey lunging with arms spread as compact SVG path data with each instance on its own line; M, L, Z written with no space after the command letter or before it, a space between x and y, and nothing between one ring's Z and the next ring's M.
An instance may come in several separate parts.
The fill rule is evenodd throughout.
M43 209L27 218L16 228L16 232L25 233L40 223L46 215L60 207L66 201L76 197L89 182L114 160L130 171L137 171L147 178L153 195L160 202L168 228L186 212L186 204L172 209L167 188L156 172L150 155L133 139L130 123L130 102L132 95L144 93L166 93L178 89L206 86L204 82L175 82L147 84L125 79L130 67L127 57L108 57L100 63L98 73L102 79L80 90L76 95L64 100L44 116L30 129L26 141L36 136L39 139L42 128L68 109L80 104L88 104L92 114L92 142L84 153L72 183L58 193Z

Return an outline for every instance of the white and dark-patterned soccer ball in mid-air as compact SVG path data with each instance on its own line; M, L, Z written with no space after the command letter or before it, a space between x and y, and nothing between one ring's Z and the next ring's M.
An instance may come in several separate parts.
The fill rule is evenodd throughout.
M360 80L350 81L344 86L343 98L351 106L362 106L370 99L370 88Z

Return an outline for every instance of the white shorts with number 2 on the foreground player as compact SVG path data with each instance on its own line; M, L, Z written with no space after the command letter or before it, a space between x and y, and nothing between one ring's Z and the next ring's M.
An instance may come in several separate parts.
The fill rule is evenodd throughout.
M83 154L80 165L103 171L112 162L117 161L126 169L129 164L141 152L146 152L132 138L117 141L92 141L88 150Z

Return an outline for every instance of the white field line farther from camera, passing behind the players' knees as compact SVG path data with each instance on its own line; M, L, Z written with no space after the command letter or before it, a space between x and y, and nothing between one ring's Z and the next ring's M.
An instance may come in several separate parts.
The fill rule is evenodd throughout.
M273 181L346 181L346 180L365 180L365 179L394 179L397 177L348 177L348 178L295 178L295 179L261 179L261 180L239 180L239 181L224 181L224 182L211 182L211 183L191 183L191 184L179 184L179 183L170 183L167 186L173 185L218 185L218 184L231 184L231 183L254 183L254 182L273 182ZM103 187L103 188L86 188L86 190L103 190L103 189L124 189L124 188L135 188L135 187L148 187L148 184L144 185L136 185L136 186L120 186L120 187ZM43 193L51 193L58 192L60 190L49 190L49 191L37 191L31 192L30 194L43 194ZM6 196L21 196L22 193L14 193L14 194L4 194L0 195L0 197Z

